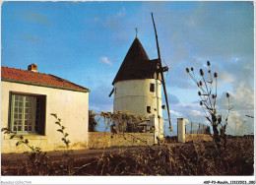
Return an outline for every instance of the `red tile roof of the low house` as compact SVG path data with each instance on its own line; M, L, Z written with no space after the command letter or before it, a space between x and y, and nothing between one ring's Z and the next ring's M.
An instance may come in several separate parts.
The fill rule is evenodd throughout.
M76 85L67 80L50 74L37 73L3 66L1 68L1 79L2 81L29 84L34 86L42 86L77 92L90 92L90 90L87 88L81 87L79 85Z

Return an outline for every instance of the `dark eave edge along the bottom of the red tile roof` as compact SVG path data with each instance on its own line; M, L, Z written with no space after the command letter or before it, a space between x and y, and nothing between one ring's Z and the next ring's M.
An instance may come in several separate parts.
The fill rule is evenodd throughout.
M43 85L43 84L39 84L39 83L32 83L32 82L6 79L6 78L1 78L1 81L10 82L10 83L25 84L25 85L32 85L32 86L39 86L39 87L44 87L44 88L67 90L67 91L72 91L72 92L91 92L91 90L89 90L89 89L87 89L87 90L76 90L76 89L72 89L72 88L56 87L56 86L52 86L52 85Z

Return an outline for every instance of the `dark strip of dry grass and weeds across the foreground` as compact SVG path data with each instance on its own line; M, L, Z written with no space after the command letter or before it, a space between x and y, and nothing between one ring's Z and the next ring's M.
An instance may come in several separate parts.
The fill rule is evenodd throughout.
M227 139L226 150L213 142L101 150L87 157L27 154L6 160L2 175L253 175L253 137ZM14 155L15 156L15 155ZM56 159L57 158L57 159ZM17 161L17 162L16 162Z

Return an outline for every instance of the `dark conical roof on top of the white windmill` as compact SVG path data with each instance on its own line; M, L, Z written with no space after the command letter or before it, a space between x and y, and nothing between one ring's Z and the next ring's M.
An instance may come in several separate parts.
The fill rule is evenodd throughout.
M126 80L156 79L157 65L158 61L150 60L139 38L136 37L125 56L112 85L119 81Z

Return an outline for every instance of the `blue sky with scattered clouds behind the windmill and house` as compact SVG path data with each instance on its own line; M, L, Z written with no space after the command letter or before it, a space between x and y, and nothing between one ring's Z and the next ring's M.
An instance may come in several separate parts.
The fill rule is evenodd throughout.
M3 2L1 8L1 65L26 70L35 63L40 73L89 88L89 108L95 112L113 110L108 94L135 28L150 59L158 58L153 12L161 59L169 67L164 78L174 132L179 117L187 124L209 124L185 70L193 67L198 74L208 69L208 60L219 74L217 105L223 115L225 92L230 93L227 134L254 132L254 119L245 116L254 115L252 2L27 1Z

